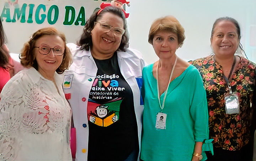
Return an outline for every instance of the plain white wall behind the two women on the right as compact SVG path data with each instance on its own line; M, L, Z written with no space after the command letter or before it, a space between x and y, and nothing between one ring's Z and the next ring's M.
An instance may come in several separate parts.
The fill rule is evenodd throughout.
M146 62L158 60L148 33L154 19L166 15L175 16L185 28L186 39L176 53L179 57L192 60L205 57L212 52L210 33L214 21L223 16L235 18L241 27L241 43L247 57L256 62L256 0L133 0L127 7L130 12L130 47L143 53ZM254 35L250 35L250 27Z

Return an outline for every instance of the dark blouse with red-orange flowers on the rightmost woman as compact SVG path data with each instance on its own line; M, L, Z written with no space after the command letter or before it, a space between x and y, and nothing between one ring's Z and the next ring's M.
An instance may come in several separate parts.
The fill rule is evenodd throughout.
M224 97L229 89L223 78L222 66L214 61L214 55L196 59L192 64L199 70L204 81L209 110L209 138L214 139L213 145L226 150L241 149L250 138L256 65L240 57L230 80L232 92L238 92L240 113L226 114Z

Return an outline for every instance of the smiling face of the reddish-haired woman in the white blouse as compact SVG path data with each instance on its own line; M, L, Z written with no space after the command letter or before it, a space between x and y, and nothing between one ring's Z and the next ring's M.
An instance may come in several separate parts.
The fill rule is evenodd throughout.
M43 76L46 74L53 75L62 63L63 55L55 56L52 49L46 55L41 54L37 48L39 46L48 46L50 48L59 47L65 50L64 41L57 35L44 35L37 39L35 43L36 48L34 48L34 54L38 64L38 72Z

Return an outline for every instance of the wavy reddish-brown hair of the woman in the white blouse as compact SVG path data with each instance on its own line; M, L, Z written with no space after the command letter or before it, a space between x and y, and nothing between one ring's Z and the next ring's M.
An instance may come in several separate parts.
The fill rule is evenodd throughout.
M69 68L70 64L72 63L72 55L69 48L66 46L65 35L53 27L39 29L32 35L31 39L24 44L20 54L21 64L24 67L33 67L36 70L38 70L38 64L35 59L33 49L36 44L36 41L44 35L57 35L64 42L65 51L63 54L63 60L58 69L56 70L58 74L62 74L66 69Z

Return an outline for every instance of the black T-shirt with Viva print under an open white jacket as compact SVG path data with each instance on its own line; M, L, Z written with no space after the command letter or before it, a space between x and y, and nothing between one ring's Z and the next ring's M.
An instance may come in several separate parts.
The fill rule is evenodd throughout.
M98 71L87 104L88 161L122 161L138 146L133 93L121 74L117 53L94 60Z

